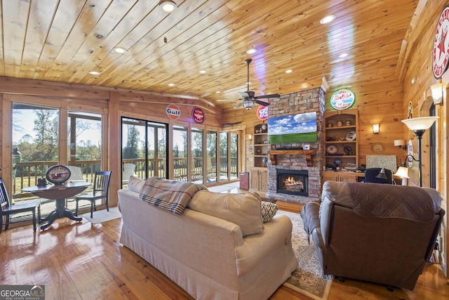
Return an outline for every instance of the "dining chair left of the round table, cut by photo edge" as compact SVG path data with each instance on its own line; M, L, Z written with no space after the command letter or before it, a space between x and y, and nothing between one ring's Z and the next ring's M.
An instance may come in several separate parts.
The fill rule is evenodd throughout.
M8 192L6 191L6 185L2 178L0 178L0 233L3 227L3 216L6 216L5 230L9 227L9 221L11 220L11 215L20 214L30 211L33 216L33 230L36 231L36 207L37 207L37 217L41 219L41 202L27 202L21 204L13 204L9 201Z

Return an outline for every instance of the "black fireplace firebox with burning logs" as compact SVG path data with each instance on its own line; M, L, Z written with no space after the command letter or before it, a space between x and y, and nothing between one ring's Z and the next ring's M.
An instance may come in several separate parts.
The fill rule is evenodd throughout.
M307 170L277 169L277 193L309 196L309 172Z

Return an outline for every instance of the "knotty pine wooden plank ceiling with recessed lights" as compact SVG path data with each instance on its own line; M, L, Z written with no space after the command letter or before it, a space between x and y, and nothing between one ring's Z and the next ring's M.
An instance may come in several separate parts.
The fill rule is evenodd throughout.
M382 85L401 80L407 62L401 53L408 53L403 39L418 5L417 0L175 2L177 9L165 13L154 0L0 1L0 76L201 98L225 111L246 91L247 58L253 59L250 90L256 96L311 89L321 86L323 77L331 89ZM330 14L336 19L321 25ZM247 54L250 48L257 52Z

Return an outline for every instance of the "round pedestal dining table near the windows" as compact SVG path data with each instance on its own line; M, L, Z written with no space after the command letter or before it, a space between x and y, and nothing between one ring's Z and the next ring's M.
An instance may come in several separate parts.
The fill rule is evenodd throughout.
M88 182L66 182L62 184L34 185L22 188L22 192L32 193L37 197L55 200L55 210L46 218L40 219L39 224L47 222L41 226L41 230L48 228L58 218L67 217L74 221L81 221L83 218L75 216L72 211L65 207L65 200L74 195L78 195L91 185Z

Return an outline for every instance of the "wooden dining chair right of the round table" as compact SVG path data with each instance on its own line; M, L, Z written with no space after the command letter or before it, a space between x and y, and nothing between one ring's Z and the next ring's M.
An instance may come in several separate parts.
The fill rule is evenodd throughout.
M95 177L93 179L93 192L75 197L76 216L78 216L78 202L81 200L88 200L91 202L91 218L93 218L93 211L97 210L97 206L106 205L106 209L109 211L109 181L111 181L111 171L95 172ZM105 199L105 203L97 205L97 200L103 199Z

